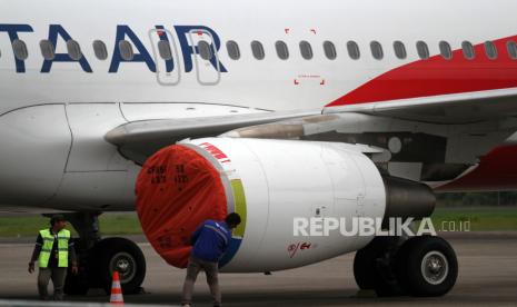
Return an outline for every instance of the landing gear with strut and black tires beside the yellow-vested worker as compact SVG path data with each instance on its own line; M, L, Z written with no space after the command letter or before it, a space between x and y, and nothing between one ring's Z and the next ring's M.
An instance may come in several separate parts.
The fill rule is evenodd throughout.
M140 291L146 277L146 259L140 248L125 238L101 239L98 214L69 214L67 219L78 231L74 240L79 273L69 271L64 283L68 295L86 295L90 288L111 290L111 275L119 271L123 294Z

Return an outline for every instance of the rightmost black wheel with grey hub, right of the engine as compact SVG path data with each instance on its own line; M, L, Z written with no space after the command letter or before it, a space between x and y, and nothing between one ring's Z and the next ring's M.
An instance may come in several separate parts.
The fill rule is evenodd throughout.
M412 296L443 296L456 284L458 260L445 239L415 237L397 252L396 274L401 287Z

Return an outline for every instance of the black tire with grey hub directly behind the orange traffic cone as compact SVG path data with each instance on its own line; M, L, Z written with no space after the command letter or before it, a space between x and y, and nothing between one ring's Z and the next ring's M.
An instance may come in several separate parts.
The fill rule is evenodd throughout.
M107 238L99 241L92 252L98 285L111 293L112 274L119 271L123 294L137 294L146 277L146 258L140 248L125 238ZM90 261L93 260L90 258Z

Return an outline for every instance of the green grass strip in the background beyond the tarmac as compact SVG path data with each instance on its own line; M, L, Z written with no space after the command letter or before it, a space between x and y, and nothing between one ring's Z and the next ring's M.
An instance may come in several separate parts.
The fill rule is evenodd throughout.
M437 230L460 230L469 227L470 231L515 231L517 230L517 207L437 207L431 217ZM102 235L141 235L143 234L136 212L103 214L99 218ZM38 230L48 227L49 219L36 216L0 217L0 237L37 236ZM72 227L68 227L74 234Z

